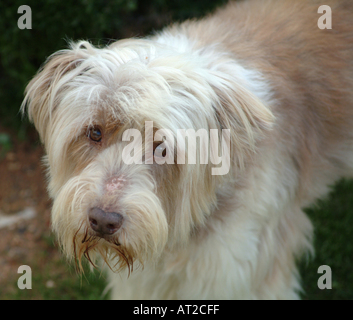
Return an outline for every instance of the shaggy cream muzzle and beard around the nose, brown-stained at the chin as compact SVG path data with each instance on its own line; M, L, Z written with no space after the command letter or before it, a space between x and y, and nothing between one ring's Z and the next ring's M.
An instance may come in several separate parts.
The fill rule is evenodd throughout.
M143 266L157 258L165 247L168 225L150 177L131 180L124 194L116 197L124 208L124 223L115 234L100 237L90 228L87 214L100 201L94 176L85 170L68 180L55 197L52 227L66 256L74 259L79 272L83 257L94 267L101 257L114 272L126 268L131 272L135 262Z

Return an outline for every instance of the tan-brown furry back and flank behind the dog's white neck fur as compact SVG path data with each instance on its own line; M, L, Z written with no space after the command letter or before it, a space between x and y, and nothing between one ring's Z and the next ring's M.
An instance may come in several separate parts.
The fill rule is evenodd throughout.
M299 172L303 206L353 173L353 2L324 4L332 29L319 28L323 3L315 0L237 1L167 29L195 47L217 44L264 75L277 101L270 106L278 129L273 143L284 142L282 151Z

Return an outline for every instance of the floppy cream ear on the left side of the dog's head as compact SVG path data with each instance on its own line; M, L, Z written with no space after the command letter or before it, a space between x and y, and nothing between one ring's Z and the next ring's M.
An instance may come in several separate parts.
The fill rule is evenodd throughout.
M59 103L58 94L64 89L65 83L75 76L71 71L77 69L87 57L83 52L91 49L92 45L81 41L71 43L70 47L71 49L60 50L51 55L25 90L21 111L28 112L28 117L34 123L43 143L52 114Z

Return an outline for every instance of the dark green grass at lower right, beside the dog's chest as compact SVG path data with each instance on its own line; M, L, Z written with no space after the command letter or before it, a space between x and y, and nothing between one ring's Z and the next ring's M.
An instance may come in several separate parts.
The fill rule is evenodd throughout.
M301 264L302 298L353 299L353 181L340 181L327 199L306 212L315 228L315 257ZM331 290L317 286L321 265L331 267Z

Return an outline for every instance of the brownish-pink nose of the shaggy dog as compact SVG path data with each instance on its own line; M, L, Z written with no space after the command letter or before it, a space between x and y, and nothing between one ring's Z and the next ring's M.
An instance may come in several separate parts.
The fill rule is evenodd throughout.
M105 212L97 207L89 210L88 218L91 228L98 235L112 235L123 223L123 216L120 213Z

